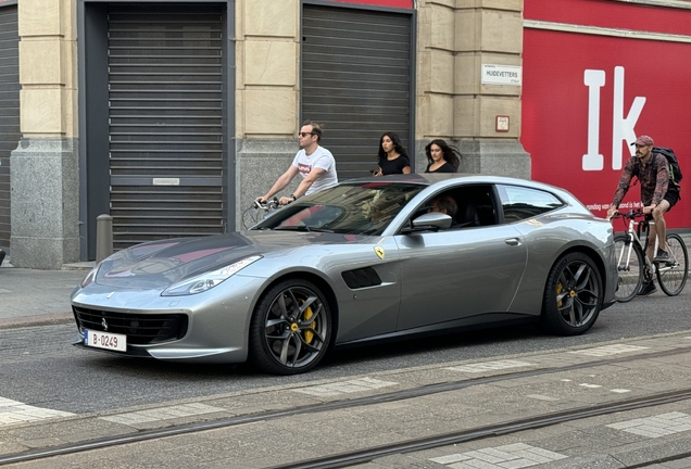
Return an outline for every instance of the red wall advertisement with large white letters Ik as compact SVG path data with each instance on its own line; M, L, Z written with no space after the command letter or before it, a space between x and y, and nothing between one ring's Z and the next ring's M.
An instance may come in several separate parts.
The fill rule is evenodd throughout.
M541 3L526 0L525 17L538 16L533 8ZM601 28L619 29L605 35L596 28L589 30L592 34L543 25L525 28L522 143L531 155L531 177L568 189L595 215L604 216L621 167L633 154L630 143L637 136L649 135L656 145L675 150L688 175L681 182L681 201L666 216L667 224L691 228L691 137L687 128L691 10L599 2L601 8L617 8L614 15L598 11L596 2L589 0L551 0L554 3L562 7L560 17L545 17L545 10L540 9L542 16L533 18L563 23L570 5L578 10L583 25L599 23ZM583 17L582 12L588 11L583 7L596 18L592 23ZM646 21L651 12L656 22ZM665 14L675 17L668 25L676 38L662 30ZM650 26L654 34L623 33L621 28L635 25ZM679 40L683 35L688 41ZM638 206L640 187L631 186L621 207Z

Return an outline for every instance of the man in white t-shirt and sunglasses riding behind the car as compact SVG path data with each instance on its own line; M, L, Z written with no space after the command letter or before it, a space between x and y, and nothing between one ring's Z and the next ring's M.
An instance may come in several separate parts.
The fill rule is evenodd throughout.
M338 183L336 175L336 160L330 151L319 147L322 140L322 127L313 122L303 124L298 134L301 150L296 154L292 164L282 174L268 192L256 198L259 201L267 201L274 194L284 190L298 173L302 176L302 181L298 189L290 197L282 197L278 200L281 205L289 204L302 195L334 187Z

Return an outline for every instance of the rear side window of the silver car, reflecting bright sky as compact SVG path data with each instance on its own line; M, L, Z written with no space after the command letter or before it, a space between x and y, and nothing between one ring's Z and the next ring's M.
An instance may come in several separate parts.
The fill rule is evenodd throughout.
M564 205L554 194L518 186L498 185L504 221L520 221Z

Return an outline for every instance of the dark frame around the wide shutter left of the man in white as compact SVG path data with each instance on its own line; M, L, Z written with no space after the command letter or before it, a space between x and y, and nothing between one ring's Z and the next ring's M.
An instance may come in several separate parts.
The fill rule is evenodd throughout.
M16 0L14 0L16 3ZM96 258L97 217L110 214L110 165L108 153L108 5L131 3L131 0L78 0L77 2L77 64L78 64L78 128L79 128L79 258ZM221 3L226 5L223 111L224 185L223 203L226 231L235 229L236 165L235 165L235 87L236 0L148 0L141 3ZM87 67L87 63L89 66Z

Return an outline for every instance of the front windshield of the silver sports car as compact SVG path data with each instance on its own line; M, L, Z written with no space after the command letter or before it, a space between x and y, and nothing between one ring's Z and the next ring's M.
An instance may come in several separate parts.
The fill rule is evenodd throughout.
M381 234L424 188L384 181L340 185L287 205L252 229Z

